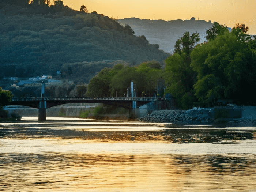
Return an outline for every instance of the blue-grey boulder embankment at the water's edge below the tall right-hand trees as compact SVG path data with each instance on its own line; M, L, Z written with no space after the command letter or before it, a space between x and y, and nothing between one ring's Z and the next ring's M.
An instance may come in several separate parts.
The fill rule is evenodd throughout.
M256 126L256 118L253 114L242 116L244 108L193 108L189 110L159 110L153 111L144 117L137 118L138 121L154 123L175 124L204 124L226 126ZM250 118L251 117L251 118ZM253 117L253 118L252 118Z

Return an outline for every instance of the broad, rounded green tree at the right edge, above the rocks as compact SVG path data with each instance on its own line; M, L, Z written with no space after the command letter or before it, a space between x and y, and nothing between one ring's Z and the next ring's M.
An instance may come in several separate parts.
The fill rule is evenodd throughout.
M193 49L191 67L198 74L194 88L200 102L254 102L251 90L256 88L256 50L251 48L254 40L241 38L244 35L241 29L233 28L231 33L226 31Z

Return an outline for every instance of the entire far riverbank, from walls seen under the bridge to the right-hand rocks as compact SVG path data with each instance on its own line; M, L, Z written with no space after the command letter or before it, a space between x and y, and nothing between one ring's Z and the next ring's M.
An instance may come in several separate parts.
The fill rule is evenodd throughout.
M93 113L94 108L84 108L90 113L84 118L97 120L135 120L128 113L125 114L100 114ZM48 117L75 117L81 118L82 106L62 106L47 109ZM20 116L38 117L38 109L20 108L8 110L8 113L16 113ZM9 115L10 116L10 115ZM3 119L2 119L3 120ZM0 119L0 121L2 121ZM7 119L5 119L7 120ZM3 121L5 121L3 120ZM203 125L225 125L225 126L256 126L256 107L229 106L220 108L193 108L189 110L156 110L151 114L139 117L136 120L152 123L174 123L174 124L203 124ZM11 121L11 120L7 120Z

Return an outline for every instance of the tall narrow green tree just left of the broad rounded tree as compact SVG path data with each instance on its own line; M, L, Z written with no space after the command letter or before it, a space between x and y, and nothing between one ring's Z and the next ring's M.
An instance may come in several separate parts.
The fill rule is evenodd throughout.
M196 72L190 67L190 54L199 40L198 33L190 35L187 31L183 37L176 41L174 54L165 60L166 93L176 97L178 107L182 109L191 108L193 102L196 101L193 96Z

